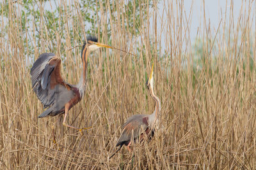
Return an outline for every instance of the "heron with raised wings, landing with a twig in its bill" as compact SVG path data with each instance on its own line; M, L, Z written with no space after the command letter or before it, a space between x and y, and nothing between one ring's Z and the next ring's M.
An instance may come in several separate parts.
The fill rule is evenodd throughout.
M81 101L86 88L87 60L90 52L100 47L111 46L98 43L97 38L88 36L81 52L83 71L76 85L71 85L61 77L61 59L54 53L42 53L31 67L33 90L38 99L44 104L45 110L39 118L56 116L65 113L63 125L82 131L81 128L68 125L66 118L68 111ZM83 128L86 129L86 128Z

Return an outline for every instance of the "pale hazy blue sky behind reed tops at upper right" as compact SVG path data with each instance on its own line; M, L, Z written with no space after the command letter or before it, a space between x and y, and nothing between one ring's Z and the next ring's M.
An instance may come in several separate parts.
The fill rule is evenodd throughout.
M190 26L189 26L189 37L191 40L191 43L193 43L196 39L197 36L197 31L201 30L201 32L198 32L198 34L202 37L203 30L204 30L204 9L205 9L205 21L206 21L206 26L211 26L211 35L213 36L216 34L216 31L218 29L218 26L221 21L220 25L220 30L219 32L223 31L223 23L225 22L225 15L226 15L226 22L229 20L230 17L230 11L233 11L233 20L234 20L234 27L237 27L237 20L239 16L247 16L248 15L248 4L250 1L242 1L242 0L184 0L184 6L183 10L184 13L186 13L186 16L189 17L189 13L191 11L191 20L190 20ZM157 10L157 34L159 39L161 39L161 46L162 49L164 50L165 43L164 43L164 36L166 35L166 32L160 32L163 29L166 29L168 25L163 25L161 29L161 17L163 16L163 20L166 20L166 11L164 9L168 9L169 6L172 3L173 5L173 14L175 15L176 12L175 10L177 9L177 4L179 5L180 1L179 0L166 0L166 1L159 1L159 4L157 5L158 10ZM192 5L193 4L193 5ZM165 6L165 8L164 8ZM205 8L204 8L205 6ZM233 8L233 10L231 10ZM242 10L241 10L242 9ZM245 10L246 9L246 10ZM244 12L246 11L246 12ZM164 15L163 15L164 12ZM183 13L183 18L184 18L184 13ZM244 15L245 14L245 15ZM175 16L177 17L177 16ZM251 15L250 15L250 25L252 25L252 33L254 34L255 31L253 31L253 28L255 28L255 2L252 3L252 10L251 10ZM221 20L222 18L222 20ZM253 20L252 20L253 18ZM184 18L184 22L185 22ZM153 17L150 20L150 24L153 24ZM229 24L229 23L228 23ZM184 28L182 32L185 32L185 27L186 25L183 25ZM150 25L150 29L152 28L152 25ZM225 27L227 29L227 25ZM152 30L151 30L152 31ZM153 34L153 33L152 33ZM184 35L184 34L183 34ZM199 36L198 35L198 36ZM188 34L187 34L188 36ZM160 43L160 42L159 42Z

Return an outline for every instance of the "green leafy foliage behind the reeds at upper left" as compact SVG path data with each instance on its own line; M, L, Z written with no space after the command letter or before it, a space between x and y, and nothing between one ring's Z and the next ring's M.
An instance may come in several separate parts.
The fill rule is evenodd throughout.
M28 47L26 51L34 53L35 46L37 46L39 52L40 50L49 50L51 52L56 52L58 51L58 43L61 42L63 45L66 44L65 35L67 34L70 37L71 45L81 44L81 41L84 41L84 33L98 34L99 32L101 36L102 27L99 27L97 22L100 20L100 17L105 17L105 15L107 15L106 18L108 19L108 21L106 22L106 25L104 25L104 27L106 27L106 30L108 32L109 43L111 41L110 17L115 18L115 21L117 20L116 17L119 17L121 22L124 20L125 27L127 28L126 30L136 36L141 26L140 9L141 6L146 5L148 5L149 8L152 8L152 0L148 1L148 4L141 4L138 0L129 1L127 4L117 4L115 3L115 1L106 0L82 0L78 3L61 3L61 5L56 3L56 1L38 2L32 0L24 0L22 2L15 2L15 8L21 8L22 13L20 13L20 16L15 16L14 18L17 19L15 19L14 21L15 24L21 25L21 27L17 26L17 28L20 28L22 36L29 34L29 37L35 38L28 39L27 44L24 45ZM7 18L10 18L9 7L9 1L5 1L0 6L0 12L3 13L3 16L6 20ZM104 8L103 11L106 11L106 13L100 13L100 11L102 11L101 8ZM118 15L118 10L120 10L120 15ZM70 15L68 11L74 11L74 15ZM77 13L79 13L79 15L81 16L80 18L77 17ZM147 17L146 11L143 11L143 17ZM75 26L68 27L67 29L67 25L65 25L67 24L67 20L69 22L72 22ZM6 27L9 24L10 21L8 21ZM77 39L76 35L79 35L81 39ZM44 38L46 36L47 38ZM47 42L44 42L45 39L47 39ZM47 46L42 46L42 44L46 44ZM60 53L65 53L65 49L61 49L62 51Z

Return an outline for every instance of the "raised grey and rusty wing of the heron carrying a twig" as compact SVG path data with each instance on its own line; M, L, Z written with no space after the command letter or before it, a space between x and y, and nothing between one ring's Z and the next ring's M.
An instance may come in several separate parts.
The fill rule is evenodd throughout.
M60 69L61 60L54 53L42 53L31 67L33 90L44 108L55 103L57 94L70 90L70 85L61 77Z

